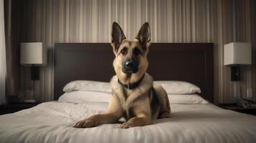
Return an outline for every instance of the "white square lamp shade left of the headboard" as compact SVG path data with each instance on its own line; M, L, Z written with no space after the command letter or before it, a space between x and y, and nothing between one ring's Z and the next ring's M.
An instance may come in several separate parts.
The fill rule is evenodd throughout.
M42 42L21 43L21 64L43 64Z

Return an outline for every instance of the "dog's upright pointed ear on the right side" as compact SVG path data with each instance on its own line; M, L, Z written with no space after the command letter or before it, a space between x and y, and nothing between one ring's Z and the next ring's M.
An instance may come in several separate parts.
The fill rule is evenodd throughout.
M146 22L141 26L141 29L138 31L138 35L136 36L136 39L141 43L144 50L146 50L150 45L150 36L149 24Z

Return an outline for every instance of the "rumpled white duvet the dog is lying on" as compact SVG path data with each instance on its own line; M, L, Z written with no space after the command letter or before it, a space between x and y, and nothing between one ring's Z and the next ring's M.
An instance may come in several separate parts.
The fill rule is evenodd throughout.
M256 142L256 117L213 104L171 104L171 118L145 127L118 124L77 129L80 119L103 113L108 103L46 102L0 116L0 142Z

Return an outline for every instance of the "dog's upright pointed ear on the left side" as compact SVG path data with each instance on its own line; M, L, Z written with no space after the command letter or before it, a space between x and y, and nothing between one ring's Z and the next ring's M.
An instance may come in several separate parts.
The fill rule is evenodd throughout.
M115 51L118 51L118 48L121 42L123 41L123 39L126 39L126 37L125 37L125 34L123 34L123 30L116 22L113 22L111 36L112 36L111 45L113 46L113 49Z

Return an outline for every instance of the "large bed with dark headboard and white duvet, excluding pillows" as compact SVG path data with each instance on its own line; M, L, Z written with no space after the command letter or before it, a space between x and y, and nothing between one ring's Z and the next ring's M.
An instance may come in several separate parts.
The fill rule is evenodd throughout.
M55 100L71 81L108 82L114 74L109 44L55 44L54 49ZM148 73L155 80L196 84L209 103L172 103L171 118L154 120L145 127L118 129L118 124L103 124L77 129L72 127L75 122L103 113L108 103L45 102L1 115L0 142L256 142L255 116L211 103L213 44L152 44L148 60Z

